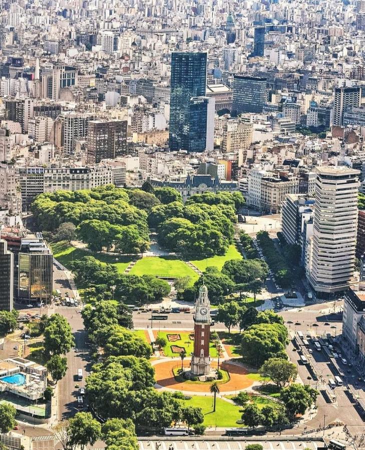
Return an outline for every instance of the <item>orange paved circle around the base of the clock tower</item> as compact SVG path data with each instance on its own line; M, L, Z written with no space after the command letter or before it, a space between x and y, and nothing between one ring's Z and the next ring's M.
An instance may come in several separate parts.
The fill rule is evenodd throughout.
M178 359L159 359L152 361L152 365L155 369L156 388L168 388L171 390L181 390L188 395L196 395L201 393L203 395L211 395L209 392L210 383L196 384L176 381L173 368L181 366L181 362ZM184 360L183 366L189 367L190 360ZM217 362L212 362L213 367L217 367ZM228 371L230 380L226 383L219 384L220 392L225 395L234 395L240 390L246 389L252 386L253 380L248 376L248 371L241 365L232 361L222 361L221 368Z

